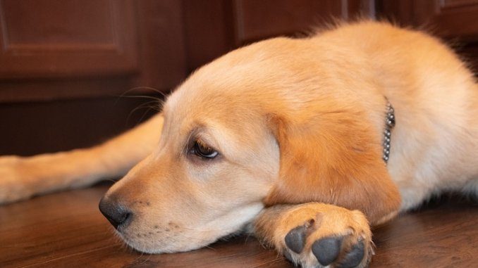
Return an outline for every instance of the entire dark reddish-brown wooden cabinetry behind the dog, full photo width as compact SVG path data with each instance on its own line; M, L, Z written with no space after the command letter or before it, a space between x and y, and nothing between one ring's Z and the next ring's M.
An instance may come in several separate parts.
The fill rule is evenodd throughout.
M359 17L428 25L478 67L478 0L0 0L0 155L102 141L149 101L125 93L167 93L232 49Z

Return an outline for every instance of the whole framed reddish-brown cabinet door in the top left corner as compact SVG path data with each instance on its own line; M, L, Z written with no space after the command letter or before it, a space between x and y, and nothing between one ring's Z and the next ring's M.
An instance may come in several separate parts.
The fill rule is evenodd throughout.
M137 71L127 0L0 1L0 78Z

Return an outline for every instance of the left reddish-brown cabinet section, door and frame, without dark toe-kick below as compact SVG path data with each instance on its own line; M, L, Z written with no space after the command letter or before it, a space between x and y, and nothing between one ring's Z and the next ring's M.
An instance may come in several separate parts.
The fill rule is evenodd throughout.
M1 0L0 101L168 91L185 77L180 7L173 0Z

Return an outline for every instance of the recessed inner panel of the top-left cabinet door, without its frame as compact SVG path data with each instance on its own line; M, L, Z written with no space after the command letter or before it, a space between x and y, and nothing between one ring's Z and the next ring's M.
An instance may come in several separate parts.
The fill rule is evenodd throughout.
M114 46L109 1L1 1L5 46ZM80 10L81 12L78 12Z

